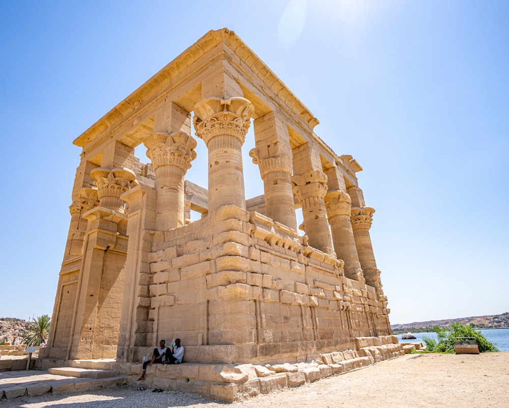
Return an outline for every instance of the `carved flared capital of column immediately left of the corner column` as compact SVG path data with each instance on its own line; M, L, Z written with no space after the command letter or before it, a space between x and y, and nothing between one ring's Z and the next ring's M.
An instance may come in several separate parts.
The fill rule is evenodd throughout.
M162 166L176 166L185 174L196 158L196 140L185 132L151 132L143 144L148 149L147 156L152 160L154 171Z

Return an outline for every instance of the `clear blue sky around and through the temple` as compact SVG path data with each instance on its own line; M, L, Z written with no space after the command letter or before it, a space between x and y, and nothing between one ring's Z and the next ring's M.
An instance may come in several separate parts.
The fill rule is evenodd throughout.
M509 2L6 0L0 18L0 317L52 313L72 141L223 27L363 167L392 323L509 311Z

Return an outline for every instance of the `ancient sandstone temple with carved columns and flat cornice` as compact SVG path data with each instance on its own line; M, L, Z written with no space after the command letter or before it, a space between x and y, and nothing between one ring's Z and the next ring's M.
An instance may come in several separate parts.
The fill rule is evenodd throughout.
M45 357L121 367L176 337L185 363L224 367L399 355L362 168L336 155L317 124L223 29L81 134ZM198 143L208 157L196 155ZM134 156L137 146L148 164ZM259 167L263 196L245 197L242 149ZM208 162L201 180L186 179L193 160ZM191 210L201 219L191 222ZM361 355L364 346L378 349Z

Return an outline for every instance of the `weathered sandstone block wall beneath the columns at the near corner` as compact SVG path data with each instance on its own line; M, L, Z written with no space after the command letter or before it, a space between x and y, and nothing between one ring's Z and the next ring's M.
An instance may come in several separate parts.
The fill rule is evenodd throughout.
M147 344L179 337L188 362L295 362L390 334L372 287L296 235L263 239L262 227L275 230L260 214L227 207L215 222L154 235L140 299L152 324Z

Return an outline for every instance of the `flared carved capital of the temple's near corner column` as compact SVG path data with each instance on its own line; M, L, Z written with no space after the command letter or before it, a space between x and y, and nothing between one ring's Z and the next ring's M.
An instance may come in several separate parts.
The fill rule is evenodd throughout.
M194 105L193 125L196 136L208 147L211 139L230 135L244 143L254 106L245 98L206 98Z

